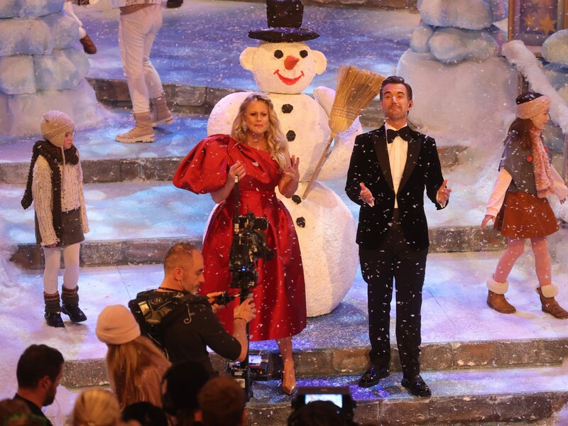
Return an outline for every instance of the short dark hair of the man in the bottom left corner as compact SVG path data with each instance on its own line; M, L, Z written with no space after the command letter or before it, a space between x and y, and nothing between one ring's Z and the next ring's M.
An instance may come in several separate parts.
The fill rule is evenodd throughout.
M18 388L33 389L45 376L55 381L61 372L63 362L63 356L57 349L45 344L29 346L21 354L16 367Z

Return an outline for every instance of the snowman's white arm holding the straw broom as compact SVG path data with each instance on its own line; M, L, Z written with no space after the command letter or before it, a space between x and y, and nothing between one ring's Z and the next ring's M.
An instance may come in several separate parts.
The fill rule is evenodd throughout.
M329 116L333 107L335 90L323 86L316 87L314 98L322 106L327 116ZM337 136L334 138L332 151L322 167L322 171L317 178L318 180L334 180L346 175L355 138L361 133L363 133L363 129L359 119L355 119L346 131L337 133Z

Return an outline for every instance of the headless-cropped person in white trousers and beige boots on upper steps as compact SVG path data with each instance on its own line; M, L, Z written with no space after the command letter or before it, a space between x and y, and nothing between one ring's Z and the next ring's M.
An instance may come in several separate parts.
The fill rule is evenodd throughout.
M153 142L153 127L173 123L160 76L150 60L155 36L162 26L162 0L111 0L111 3L120 8L120 58L136 121L136 126L117 135L116 141Z

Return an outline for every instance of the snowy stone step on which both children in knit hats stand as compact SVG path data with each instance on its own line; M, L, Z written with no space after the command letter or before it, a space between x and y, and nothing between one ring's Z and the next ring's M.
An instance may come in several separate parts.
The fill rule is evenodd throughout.
M530 283L534 275L531 258L520 258L509 277L507 297L518 312L503 315L486 306L485 281L498 257L499 253L430 254L422 292L422 371L466 371L472 368L493 371L496 368L560 366L566 362L568 329L562 320L540 311L537 294ZM566 306L568 273L557 270L553 265L555 282L559 286L557 300ZM81 307L87 321L79 325L67 323L64 330L44 326L40 339L53 342L61 338L58 337L60 334L65 334L66 341L72 345L64 348L69 371L65 375L65 386L104 383L106 348L94 335L99 312L106 305L127 305L138 292L158 287L162 278L161 265L82 268ZM41 275L24 273L20 281L23 288L33 288L41 285ZM41 306L40 291L37 293L26 296L30 305ZM293 339L298 377L353 376L365 371L368 366L366 297L366 283L357 271L349 293L333 312L308 318L306 329ZM8 317L12 310L18 312L17 307L10 305L6 309ZM28 316L32 322L37 317L37 324L43 324L42 313L38 307ZM395 300L391 304L391 346L390 370L398 372ZM272 371L278 376L280 359L275 342L251 342L251 350L267 351L271 356ZM212 361L218 371L224 371L223 359L212 354Z

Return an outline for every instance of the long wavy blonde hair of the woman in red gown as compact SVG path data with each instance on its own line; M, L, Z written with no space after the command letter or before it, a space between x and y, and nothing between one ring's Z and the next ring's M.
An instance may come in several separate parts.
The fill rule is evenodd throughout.
M268 142L268 151L271 153L271 157L278 162L280 170L285 170L285 168L288 167L288 159L286 158L288 142L280 129L280 121L274 111L274 105L266 94L251 93L248 97L246 97L241 104L241 107L239 107L239 113L236 114L235 120L233 121L231 138L234 138L235 141L241 143L247 143L244 116L246 113L246 107L254 101L261 101L268 105L268 129L264 132L264 136Z

